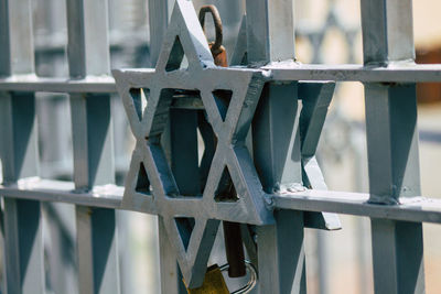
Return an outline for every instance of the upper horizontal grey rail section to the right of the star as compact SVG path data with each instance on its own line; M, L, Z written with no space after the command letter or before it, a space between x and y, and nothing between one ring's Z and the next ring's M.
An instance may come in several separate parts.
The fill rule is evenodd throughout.
M427 83L441 81L441 64L392 63L387 67L344 65L312 65L294 62L272 63L275 80L335 80L362 83Z

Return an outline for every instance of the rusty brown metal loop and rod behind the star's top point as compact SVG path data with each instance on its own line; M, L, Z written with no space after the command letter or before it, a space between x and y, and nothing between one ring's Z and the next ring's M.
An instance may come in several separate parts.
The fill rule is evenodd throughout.
M213 21L214 21L214 28L216 30L215 41L208 42L208 46L209 46L209 50L212 51L214 63L217 66L227 67L228 66L227 52L225 51L225 47L222 45L223 29L222 29L222 20L220 20L219 11L217 10L217 8L215 6L204 6L201 8L200 22L201 22L202 29L204 30L204 33L205 33L205 14L207 12L212 13Z

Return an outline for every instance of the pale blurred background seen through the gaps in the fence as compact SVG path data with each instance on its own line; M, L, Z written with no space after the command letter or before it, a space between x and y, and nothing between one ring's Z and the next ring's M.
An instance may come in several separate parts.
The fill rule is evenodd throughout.
M172 0L169 0L170 2ZM65 1L33 0L36 72L68 77ZM243 0L214 3L224 23L224 45L233 53L244 14ZM359 1L297 0L297 58L301 63L363 63ZM439 0L413 1L417 63L441 63ZM99 15L97 15L99 18ZM208 24L211 22L208 21ZM111 67L150 67L147 0L109 0ZM211 30L208 25L208 32ZM421 181L424 196L441 197L441 84L418 85ZM112 98L117 184L123 185L133 138L120 98ZM41 175L71 179L73 173L68 97L37 94ZM359 83L340 83L318 152L330 189L368 192L364 92ZM74 207L46 204L49 293L77 293ZM309 293L373 293L369 220L341 216L343 230L306 229ZM118 211L123 293L159 293L155 217ZM441 288L441 227L424 225L427 293ZM214 250L222 250L218 242ZM51 252L51 253L49 253ZM214 257L214 259L216 259Z

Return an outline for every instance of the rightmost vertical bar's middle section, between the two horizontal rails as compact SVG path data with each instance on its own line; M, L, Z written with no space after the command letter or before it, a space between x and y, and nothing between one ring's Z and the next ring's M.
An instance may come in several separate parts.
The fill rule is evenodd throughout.
M366 84L365 96L370 202L421 195L416 85Z

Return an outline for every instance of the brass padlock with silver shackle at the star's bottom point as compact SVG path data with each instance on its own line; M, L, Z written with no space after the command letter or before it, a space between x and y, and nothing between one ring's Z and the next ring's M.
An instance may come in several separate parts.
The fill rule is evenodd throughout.
M229 269L229 264L224 264L218 266L214 264L207 269L205 274L204 283L198 288L186 288L189 294L247 294L249 293L257 284L257 271L251 262L245 260L244 263L247 266L249 272L249 280L246 285L243 287L229 293L228 287L225 283L224 276L222 272L227 271ZM184 281L185 283L185 281Z

